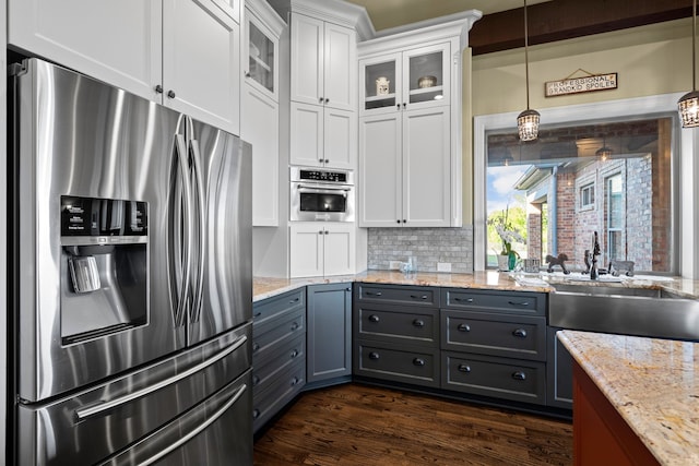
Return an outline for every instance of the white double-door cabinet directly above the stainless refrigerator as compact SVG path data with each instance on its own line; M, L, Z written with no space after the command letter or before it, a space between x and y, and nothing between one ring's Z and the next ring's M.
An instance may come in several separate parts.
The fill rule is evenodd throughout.
M239 134L240 0L9 0L8 14L11 47Z

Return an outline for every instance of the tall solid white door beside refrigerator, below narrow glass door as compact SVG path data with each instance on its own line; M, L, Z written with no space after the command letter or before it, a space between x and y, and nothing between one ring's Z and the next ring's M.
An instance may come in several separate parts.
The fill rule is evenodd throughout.
M242 88L242 139L252 144L252 225L280 223L279 106L247 83Z

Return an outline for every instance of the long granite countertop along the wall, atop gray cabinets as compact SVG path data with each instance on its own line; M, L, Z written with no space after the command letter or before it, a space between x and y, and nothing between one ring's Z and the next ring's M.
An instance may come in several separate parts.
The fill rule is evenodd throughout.
M580 274L579 274L580 275ZM416 285L416 286L439 286L453 288L479 288L479 289L499 289L510 291L538 291L550 292L555 290L556 284L560 283L579 283L593 286L625 286L625 287L650 287L665 288L671 291L684 295L687 298L695 299L699 297L699 280L638 275L635 277L624 277L620 282L609 282L601 279L597 282L577 280L572 275L564 275L562 273L554 274L513 274L501 273L495 271L474 272L472 274L449 274L449 273L429 273L417 272L405 275L398 271L366 271L356 275L339 275L331 277L310 277L310 278L271 278L254 277L253 278L253 300L271 298L285 291L304 287L306 285L319 285L330 283L347 283L347 282L367 282L382 283L392 285ZM571 280L572 279L572 280Z

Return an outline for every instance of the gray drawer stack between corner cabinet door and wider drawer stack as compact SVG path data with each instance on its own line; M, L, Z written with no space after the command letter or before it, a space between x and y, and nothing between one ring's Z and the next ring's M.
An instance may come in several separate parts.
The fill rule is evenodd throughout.
M355 375L439 387L439 288L355 284Z

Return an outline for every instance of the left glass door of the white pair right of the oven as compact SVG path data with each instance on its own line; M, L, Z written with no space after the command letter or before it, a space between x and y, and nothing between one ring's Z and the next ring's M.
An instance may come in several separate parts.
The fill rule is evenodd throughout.
M360 88L363 113L395 111L400 108L402 104L400 60L401 53L391 53L359 62L363 79Z

